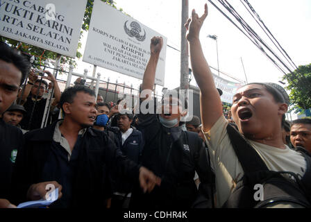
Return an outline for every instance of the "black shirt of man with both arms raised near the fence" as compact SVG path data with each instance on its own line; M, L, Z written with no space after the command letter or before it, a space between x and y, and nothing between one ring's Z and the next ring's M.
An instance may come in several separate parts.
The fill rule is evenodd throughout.
M27 101L24 104L24 108L27 111L27 113L24 115L24 118L22 119L20 123L23 129L34 130L37 128L41 128L41 123L42 123L46 103L47 103L47 99L40 99L35 102L31 99L31 96L28 96ZM33 105L35 105L34 110L33 110ZM32 111L33 111L33 117L31 118Z

